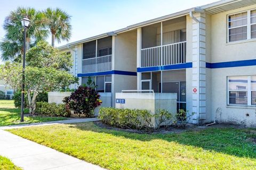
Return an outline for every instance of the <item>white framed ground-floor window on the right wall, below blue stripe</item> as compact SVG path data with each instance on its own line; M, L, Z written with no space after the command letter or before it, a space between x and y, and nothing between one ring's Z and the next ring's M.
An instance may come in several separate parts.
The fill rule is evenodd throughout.
M228 105L256 106L256 75L228 77Z

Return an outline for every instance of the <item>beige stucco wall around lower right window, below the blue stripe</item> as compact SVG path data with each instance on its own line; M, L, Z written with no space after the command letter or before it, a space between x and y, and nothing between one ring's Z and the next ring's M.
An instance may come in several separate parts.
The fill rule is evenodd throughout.
M255 75L255 66L230 67L212 69L212 116L216 116L217 108L222 112L217 113L219 122L238 123L256 126L255 106L228 106L227 105L227 77L233 75ZM249 116L246 116L249 113Z

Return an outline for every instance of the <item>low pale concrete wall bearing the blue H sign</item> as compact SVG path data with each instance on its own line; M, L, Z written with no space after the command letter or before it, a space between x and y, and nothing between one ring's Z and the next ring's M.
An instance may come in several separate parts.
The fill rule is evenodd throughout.
M155 114L159 109L170 113L177 112L177 94L170 93L116 93L116 100L124 99L125 103L116 103L116 108L146 109ZM152 120L156 125L156 120Z

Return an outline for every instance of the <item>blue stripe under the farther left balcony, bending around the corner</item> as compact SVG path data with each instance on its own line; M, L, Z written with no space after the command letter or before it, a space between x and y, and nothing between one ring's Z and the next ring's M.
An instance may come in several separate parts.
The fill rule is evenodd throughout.
M97 73L79 73L79 74L77 74L77 77L89 77L89 76L109 75L109 74L133 75L133 76L137 76L137 72L111 70L111 71L97 72Z

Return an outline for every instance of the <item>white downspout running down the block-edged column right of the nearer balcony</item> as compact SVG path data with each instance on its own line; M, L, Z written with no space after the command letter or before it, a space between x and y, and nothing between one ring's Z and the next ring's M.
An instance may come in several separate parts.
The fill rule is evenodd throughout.
M193 10L189 11L190 18L193 19L194 21L196 21L199 24L198 25L198 58L199 58L199 60L197 62L197 67L198 67L198 70L197 70L197 73L198 73L198 75L197 75L197 79L198 79L197 113L198 114L197 114L197 117L196 117L197 118L197 120L196 120L197 124L200 123L200 113L199 113L199 111L200 111L200 35L201 35L200 23L201 23L201 21L199 21L197 18L195 18L193 13L203 13L203 12L204 12L204 10L202 10L201 8L197 8L197 7L193 8Z

